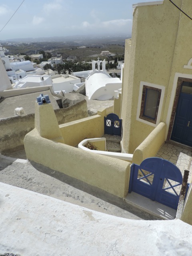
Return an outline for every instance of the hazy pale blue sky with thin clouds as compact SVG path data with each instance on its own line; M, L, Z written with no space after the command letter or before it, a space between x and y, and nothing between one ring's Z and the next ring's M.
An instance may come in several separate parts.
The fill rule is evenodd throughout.
M23 0L0 0L0 30ZM86 34L131 34L132 4L150 0L25 0L0 40Z

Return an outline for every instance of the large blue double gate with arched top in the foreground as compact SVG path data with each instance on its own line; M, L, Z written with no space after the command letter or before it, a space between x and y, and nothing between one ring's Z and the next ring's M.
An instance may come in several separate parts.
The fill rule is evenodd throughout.
M178 167L162 158L147 158L140 166L132 164L129 192L177 209L182 185Z

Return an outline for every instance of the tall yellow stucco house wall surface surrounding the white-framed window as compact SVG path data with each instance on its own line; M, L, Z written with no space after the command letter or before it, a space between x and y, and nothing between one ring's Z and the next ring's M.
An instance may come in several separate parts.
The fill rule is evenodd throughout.
M155 2L154 2L155 3ZM190 0L175 0L188 15L192 15ZM122 147L133 153L154 130L154 126L136 120L140 82L165 87L160 122L166 122L172 110L170 98L176 72L192 74L183 66L190 60L192 44L191 20L168 0L163 4L138 6L134 10L132 40L126 40L121 118L123 120Z

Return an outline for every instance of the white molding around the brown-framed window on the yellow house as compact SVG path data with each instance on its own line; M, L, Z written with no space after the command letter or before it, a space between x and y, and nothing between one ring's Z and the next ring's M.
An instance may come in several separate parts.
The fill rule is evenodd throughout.
M160 89L160 90L161 90L161 98L160 98L160 102L159 102L159 108L158 108L158 114L157 114L157 121L156 121L156 124L153 124L153 123L151 123L151 122L148 122L148 121L146 121L146 120L143 120L143 119L139 118L139 116L140 116L140 111L141 111L142 92L143 92L143 86L144 86L144 85L150 86L150 87L153 87L153 88L157 88L157 89ZM149 124L149 125L151 125L151 126L156 127L156 126L160 123L160 117L161 117L161 112L162 112L164 94L165 94L165 86L159 85L159 84L151 84L151 83L148 83L148 82L141 81L141 82L140 82L140 89L139 89L139 98L138 98L138 106L137 106L137 117L136 117L136 120L137 120L137 121L140 121L140 122L142 122L142 123L144 123L144 124Z

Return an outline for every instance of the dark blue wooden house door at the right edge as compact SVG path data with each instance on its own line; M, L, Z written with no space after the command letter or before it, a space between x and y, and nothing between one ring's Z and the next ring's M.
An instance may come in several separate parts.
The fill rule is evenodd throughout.
M171 140L192 146L192 94L180 93Z

